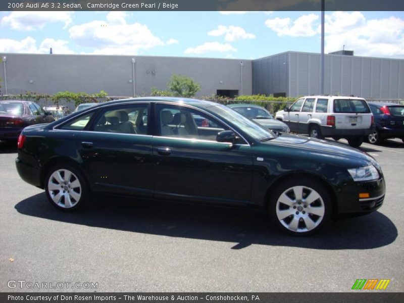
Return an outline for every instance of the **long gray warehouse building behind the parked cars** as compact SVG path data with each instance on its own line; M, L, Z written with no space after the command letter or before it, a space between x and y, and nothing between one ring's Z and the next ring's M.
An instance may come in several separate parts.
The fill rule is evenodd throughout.
M340 55L341 54L341 55ZM325 55L325 93L368 99L404 98L404 60ZM320 93L320 54L286 52L257 60L153 56L1 54L3 94L105 90L110 96L167 89L172 74L193 78L197 96Z

